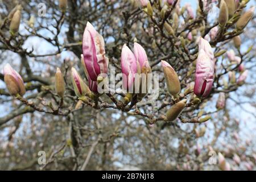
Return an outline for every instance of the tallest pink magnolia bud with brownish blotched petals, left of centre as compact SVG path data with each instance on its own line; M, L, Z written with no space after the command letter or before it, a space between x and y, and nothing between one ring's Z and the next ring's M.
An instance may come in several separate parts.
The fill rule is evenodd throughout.
M108 72L108 58L105 56L104 39L87 22L82 38L82 54L88 75L92 81L97 81L98 75Z

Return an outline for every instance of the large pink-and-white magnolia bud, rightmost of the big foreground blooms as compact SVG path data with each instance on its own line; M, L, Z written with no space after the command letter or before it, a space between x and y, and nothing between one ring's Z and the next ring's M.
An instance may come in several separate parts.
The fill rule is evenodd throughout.
M204 49L200 49L196 61L196 80L194 93L197 96L207 97L212 89L214 77L214 66L212 61L205 53Z

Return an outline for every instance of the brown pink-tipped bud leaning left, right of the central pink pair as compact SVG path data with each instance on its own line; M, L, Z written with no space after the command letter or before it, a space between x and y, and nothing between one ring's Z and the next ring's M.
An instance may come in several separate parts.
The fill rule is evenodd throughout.
M166 84L168 92L172 96L176 96L180 93L180 80L174 68L171 67L166 61L162 61L162 67L164 71L164 77L166 78Z

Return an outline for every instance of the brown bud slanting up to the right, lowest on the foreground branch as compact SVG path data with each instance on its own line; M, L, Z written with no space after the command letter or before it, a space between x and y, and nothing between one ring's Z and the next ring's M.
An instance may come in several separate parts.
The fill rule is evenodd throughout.
M171 106L171 108L166 113L167 121L174 121L184 109L186 102L187 100L182 100Z

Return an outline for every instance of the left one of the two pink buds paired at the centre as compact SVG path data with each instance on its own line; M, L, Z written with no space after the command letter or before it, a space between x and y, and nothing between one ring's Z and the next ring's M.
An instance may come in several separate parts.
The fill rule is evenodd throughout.
M137 73L137 61L133 52L131 52L126 44L122 48L121 69L123 73L123 88L128 90L133 85L135 73Z

